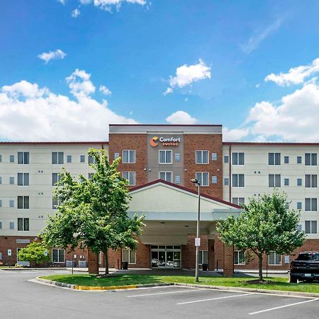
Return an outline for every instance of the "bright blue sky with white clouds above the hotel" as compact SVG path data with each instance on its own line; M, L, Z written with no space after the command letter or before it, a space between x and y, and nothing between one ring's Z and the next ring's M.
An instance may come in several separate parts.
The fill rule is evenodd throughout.
M109 123L319 142L319 1L0 0L0 140Z

